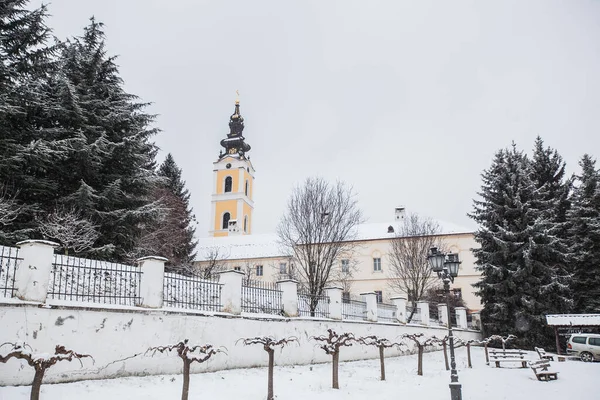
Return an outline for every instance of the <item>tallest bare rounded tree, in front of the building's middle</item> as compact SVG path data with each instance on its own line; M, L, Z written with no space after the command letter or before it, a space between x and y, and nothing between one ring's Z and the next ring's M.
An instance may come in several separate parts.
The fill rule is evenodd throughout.
M353 254L356 227L363 222L356 195L343 182L330 184L308 178L292 192L277 235L298 263L297 273L307 292L321 296L333 280L332 268ZM311 302L311 312L317 304Z

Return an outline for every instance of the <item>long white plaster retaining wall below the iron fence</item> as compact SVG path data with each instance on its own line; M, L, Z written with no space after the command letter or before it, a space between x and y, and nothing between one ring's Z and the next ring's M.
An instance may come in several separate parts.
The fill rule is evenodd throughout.
M217 354L204 364L193 364L193 372L229 368L266 366L267 355L262 346L236 344L239 338L271 335L276 338L296 336L299 345L290 345L277 351L275 362L283 364L311 364L329 362L311 336L326 333L328 328L338 333L352 332L356 336L378 335L396 339L405 332L423 332L443 336L446 330L417 325L392 325L358 321L330 321L315 319L285 319L234 317L225 314L202 315L164 310L106 309L90 307L40 308L33 304L0 305L0 343L25 341L34 352L52 353L57 344L79 353L91 354L92 365L84 360L61 362L50 368L45 383L68 382L81 379L102 379L128 375L179 374L181 360L171 354L154 357L143 353L151 346L174 344L190 339L191 344L210 343L227 348L227 355ZM480 339L479 332L456 330L456 336ZM6 351L5 346L2 350ZM141 355L123 360L135 354ZM386 350L389 356L397 350ZM341 360L359 360L378 357L375 348L354 345L341 350ZM0 364L0 385L31 384L33 370L24 361L11 359Z

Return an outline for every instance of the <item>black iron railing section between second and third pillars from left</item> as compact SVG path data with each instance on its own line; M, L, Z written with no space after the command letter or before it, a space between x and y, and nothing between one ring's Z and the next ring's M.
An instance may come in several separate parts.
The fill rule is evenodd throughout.
M221 284L215 279L165 273L163 302L166 307L221 311Z

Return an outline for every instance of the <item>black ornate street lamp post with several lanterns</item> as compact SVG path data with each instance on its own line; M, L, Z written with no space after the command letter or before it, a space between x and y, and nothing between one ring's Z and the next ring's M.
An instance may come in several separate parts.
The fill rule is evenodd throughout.
M450 282L458 276L458 254L444 254L437 247L432 247L427 256L429 267L438 278L444 282L446 293L446 308L448 309L448 339L450 341L450 399L462 400L461 385L458 383L458 372L456 371L456 360L454 358L454 337L452 335L452 319L450 318Z

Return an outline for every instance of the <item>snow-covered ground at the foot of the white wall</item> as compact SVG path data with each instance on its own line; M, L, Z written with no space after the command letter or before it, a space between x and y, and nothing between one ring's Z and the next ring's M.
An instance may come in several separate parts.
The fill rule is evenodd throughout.
M343 351L344 349L342 349ZM285 349L283 350L285 351ZM486 366L483 350L472 349L473 368L466 368L466 350L457 350L459 379L465 400L565 399L596 400L600 397L600 363L553 362L558 381L539 382L531 369ZM266 353L265 353L266 357ZM532 359L537 355L532 354ZM277 360L277 356L275 358ZM440 351L424 356L424 376L416 375L416 356L386 360L387 381L379 381L379 361L340 364L340 390L331 389L331 365L275 367L275 395L278 399L437 400L450 397L449 373ZM191 378L190 399L248 399L266 397L265 368L238 369L196 374ZM181 396L181 375L132 377L42 386L42 400L62 399L177 399ZM0 387L0 400L29 398L29 387Z

